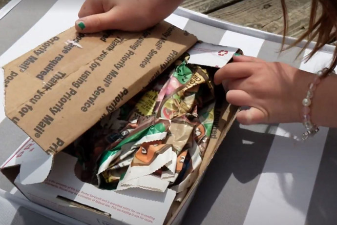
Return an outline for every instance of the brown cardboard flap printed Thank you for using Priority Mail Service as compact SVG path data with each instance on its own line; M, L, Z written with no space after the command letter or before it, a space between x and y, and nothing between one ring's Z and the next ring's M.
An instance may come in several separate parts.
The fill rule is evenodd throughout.
M6 116L53 155L196 41L167 22L139 33L70 28L4 66Z

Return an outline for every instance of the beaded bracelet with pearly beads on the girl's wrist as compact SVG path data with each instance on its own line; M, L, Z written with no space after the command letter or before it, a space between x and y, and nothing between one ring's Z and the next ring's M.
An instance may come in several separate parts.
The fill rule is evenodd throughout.
M314 78L314 81L309 84L309 90L307 92L307 96L303 99L303 109L302 109L302 116L303 116L303 125L306 128L306 132L303 133L302 139L306 140L309 136L315 135L319 128L316 124L312 123L310 120L310 105L312 103L312 98L314 97L314 92L316 90L317 85L320 83L321 79L323 78L323 74L325 74L328 68L324 68L323 70L318 71L316 74L317 76ZM334 71L335 73L335 71ZM329 74L330 75L330 74Z

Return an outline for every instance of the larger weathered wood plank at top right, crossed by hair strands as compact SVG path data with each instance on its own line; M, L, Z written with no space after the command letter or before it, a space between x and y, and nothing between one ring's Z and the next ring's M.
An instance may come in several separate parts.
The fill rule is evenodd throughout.
M299 37L307 28L311 0L287 0L288 36ZM280 0L244 0L222 8L210 16L275 34L283 33Z

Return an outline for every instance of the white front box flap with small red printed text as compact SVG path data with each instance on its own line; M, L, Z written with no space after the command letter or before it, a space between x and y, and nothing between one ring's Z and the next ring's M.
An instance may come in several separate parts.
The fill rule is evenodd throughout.
M68 206L71 201L72 204L87 206L85 212L81 212L83 214L89 213L88 207L110 214L112 220L108 220L109 224L163 224L175 191L168 189L162 193L132 188L118 192L99 189L78 179L76 163L77 158L61 152L54 156L53 169L43 183L22 185L17 178L15 184L30 200L55 207L53 209L61 210L61 213L66 211L68 215L73 210L63 206ZM64 201L66 199L69 201ZM83 214L75 218L83 221L86 217Z

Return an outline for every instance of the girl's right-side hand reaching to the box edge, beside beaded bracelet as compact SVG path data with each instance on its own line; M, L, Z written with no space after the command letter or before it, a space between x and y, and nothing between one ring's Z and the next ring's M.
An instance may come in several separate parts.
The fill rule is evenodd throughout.
M237 114L239 123L297 123L314 76L284 63L234 56L216 72L214 82L229 90L228 102L251 107Z

